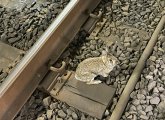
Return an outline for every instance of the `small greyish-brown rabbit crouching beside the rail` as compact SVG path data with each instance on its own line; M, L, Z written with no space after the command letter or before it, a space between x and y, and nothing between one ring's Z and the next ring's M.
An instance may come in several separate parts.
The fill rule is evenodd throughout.
M107 77L113 68L119 63L118 59L108 51L103 51L100 57L87 58L76 68L75 78L87 84L99 84L100 80L94 80L98 75Z

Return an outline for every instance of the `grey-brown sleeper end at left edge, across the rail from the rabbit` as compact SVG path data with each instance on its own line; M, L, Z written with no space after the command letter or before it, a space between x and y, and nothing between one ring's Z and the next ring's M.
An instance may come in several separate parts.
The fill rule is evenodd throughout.
M15 62L23 51L0 42L0 69L6 69Z

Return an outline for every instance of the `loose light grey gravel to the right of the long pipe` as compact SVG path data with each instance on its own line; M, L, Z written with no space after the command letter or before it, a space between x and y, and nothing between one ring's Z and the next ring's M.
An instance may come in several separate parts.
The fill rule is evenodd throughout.
M165 109L165 29L131 93L124 120L164 120Z

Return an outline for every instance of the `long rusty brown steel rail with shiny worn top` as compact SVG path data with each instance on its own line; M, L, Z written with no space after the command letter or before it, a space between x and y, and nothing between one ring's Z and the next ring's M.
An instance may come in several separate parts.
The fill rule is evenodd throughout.
M0 87L0 120L14 119L101 0L71 0Z

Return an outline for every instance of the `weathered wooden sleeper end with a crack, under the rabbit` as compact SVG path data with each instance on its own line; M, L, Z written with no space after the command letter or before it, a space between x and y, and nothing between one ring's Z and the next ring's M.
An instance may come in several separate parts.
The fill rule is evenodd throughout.
M58 87L55 85L55 89ZM78 81L72 73L59 94L51 92L56 99L66 102L91 116L101 119L115 94L115 88L106 84L87 85Z

